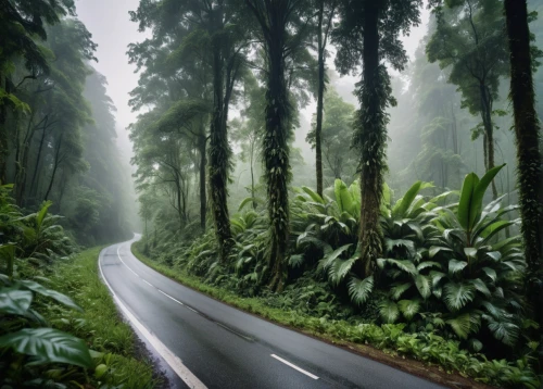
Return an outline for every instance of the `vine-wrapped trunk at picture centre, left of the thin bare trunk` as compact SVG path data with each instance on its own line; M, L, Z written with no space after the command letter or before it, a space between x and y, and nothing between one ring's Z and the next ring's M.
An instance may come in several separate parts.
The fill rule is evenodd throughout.
M290 105L285 80L283 29L274 25L267 43L268 79L266 91L266 133L263 156L266 165L270 248L269 287L280 291L285 286L286 255L289 241L289 118Z

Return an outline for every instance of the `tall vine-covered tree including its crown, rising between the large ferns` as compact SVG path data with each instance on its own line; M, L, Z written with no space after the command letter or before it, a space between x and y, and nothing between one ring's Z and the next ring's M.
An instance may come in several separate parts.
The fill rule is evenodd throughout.
M412 25L420 23L421 0L343 0L341 24L333 40L339 47L336 65L346 74L363 66L357 97L353 146L359 152L361 172L361 259L363 276L370 275L382 253L379 208L382 199L383 174L387 168L386 145L388 105L395 104L391 96L387 60L403 70L407 55L400 40Z

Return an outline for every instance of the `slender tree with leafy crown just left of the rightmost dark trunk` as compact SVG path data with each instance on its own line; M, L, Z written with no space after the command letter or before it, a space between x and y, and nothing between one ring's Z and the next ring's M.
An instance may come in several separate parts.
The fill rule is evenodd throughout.
M480 114L482 124L476 127L475 138L482 133L484 166L489 171L495 165L494 101L500 77L509 67L502 2L460 0L449 5L434 9L438 28L428 42L427 54L430 62L451 67L449 80L462 91L463 105L471 114ZM495 180L492 193L497 197Z

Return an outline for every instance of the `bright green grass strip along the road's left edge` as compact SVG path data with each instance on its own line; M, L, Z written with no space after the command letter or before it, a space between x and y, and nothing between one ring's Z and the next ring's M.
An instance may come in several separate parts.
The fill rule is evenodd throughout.
M54 288L70 296L84 312L51 306L51 324L84 339L93 353L97 367L91 381L97 387L153 388L153 367L136 357L138 347L130 326L121 319L108 287L100 279L98 256L93 248L56 264L49 276Z

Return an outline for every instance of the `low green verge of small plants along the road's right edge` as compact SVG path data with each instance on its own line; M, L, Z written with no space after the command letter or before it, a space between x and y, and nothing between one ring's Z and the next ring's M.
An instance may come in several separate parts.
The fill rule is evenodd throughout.
M488 361L481 354L470 354L459 348L457 341L432 332L405 332L402 324L351 324L269 306L263 298L241 297L204 284L185 269L153 261L139 250L137 243L132 244L131 251L148 266L214 299L442 385L463 382L471 388L487 388L487 384L490 384L532 389L540 385L526 359L513 363L505 360Z

